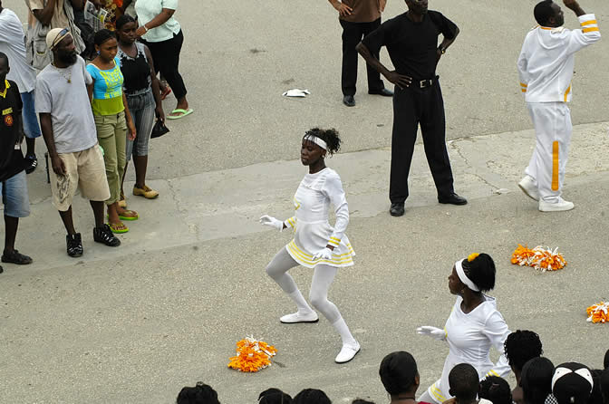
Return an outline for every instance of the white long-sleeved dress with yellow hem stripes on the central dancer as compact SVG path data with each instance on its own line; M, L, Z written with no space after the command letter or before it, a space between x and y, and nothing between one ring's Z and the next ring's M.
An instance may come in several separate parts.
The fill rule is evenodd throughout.
M336 223L328 222L330 205L334 207ZM343 182L332 168L307 174L294 196L295 216L285 221L294 227L294 240L285 246L287 252L300 264L310 268L324 264L331 266L353 265L353 247L344 234L349 225L349 206L344 195ZM333 245L331 260L314 260L313 255Z

